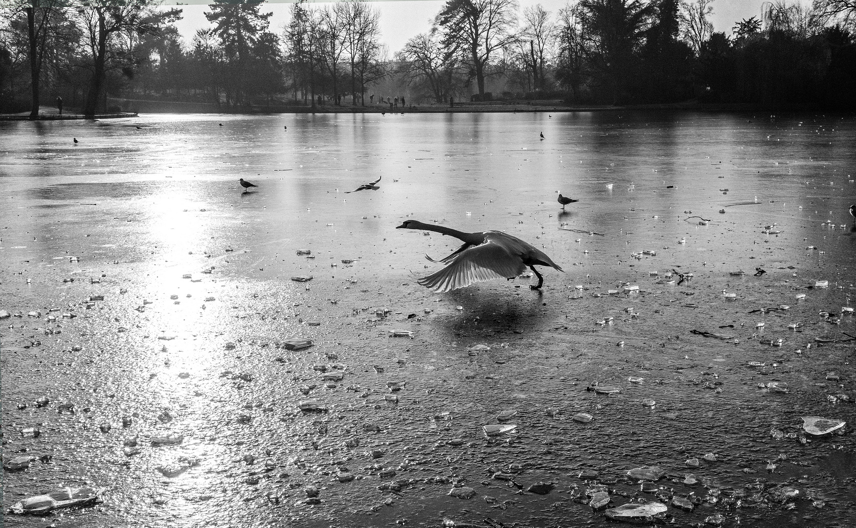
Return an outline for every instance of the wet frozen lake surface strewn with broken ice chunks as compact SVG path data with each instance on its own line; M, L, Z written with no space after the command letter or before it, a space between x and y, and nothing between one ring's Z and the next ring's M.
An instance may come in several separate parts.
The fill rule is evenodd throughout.
M609 507L659 501L681 525L851 522L852 118L141 116L0 133L0 310L22 315L0 321L3 460L35 458L4 470L4 508L91 485L103 502L57 526L597 526L600 479ZM580 202L560 214L556 191ZM506 231L567 273L543 270L542 292L431 294L413 278L437 270L423 254L460 243L396 230L407 218ZM281 345L293 336L314 345ZM803 444L803 416L847 425ZM183 440L153 445L169 435ZM666 476L643 490L626 477L640 466ZM538 483L555 488L526 491Z

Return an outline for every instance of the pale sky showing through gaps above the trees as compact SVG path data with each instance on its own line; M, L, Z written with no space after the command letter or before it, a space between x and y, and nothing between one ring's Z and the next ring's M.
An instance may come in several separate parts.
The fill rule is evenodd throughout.
M187 1L187 0L185 0ZM193 0L191 0L193 1ZM199 2L200 0L195 0ZM519 0L520 9L540 3L544 9L553 15L565 6L566 0ZM164 5L175 2L164 2ZM390 56L395 51L401 50L404 43L418 33L428 31L431 27L431 19L443 6L441 0L410 0L408 2L375 2L380 9L381 40L389 46ZM761 4L763 0L714 0L713 22L714 31L724 31L731 34L734 22L744 18L755 16L761 18ZM316 3L322 6L324 3ZM273 12L270 17L270 31L282 33L282 26L288 21L288 9L290 3L265 3L262 12ZM171 6L169 6L171 7ZM205 19L204 12L209 11L207 5L181 5L184 18L176 23L181 35L185 38L185 44L190 44L193 33L197 29L211 27Z

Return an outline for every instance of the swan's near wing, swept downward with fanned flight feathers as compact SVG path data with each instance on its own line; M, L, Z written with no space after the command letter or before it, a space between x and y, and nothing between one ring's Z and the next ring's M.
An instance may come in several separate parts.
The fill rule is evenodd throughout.
M448 266L419 279L419 284L437 293L464 288L476 282L518 276L526 270L514 256L492 240L463 250Z

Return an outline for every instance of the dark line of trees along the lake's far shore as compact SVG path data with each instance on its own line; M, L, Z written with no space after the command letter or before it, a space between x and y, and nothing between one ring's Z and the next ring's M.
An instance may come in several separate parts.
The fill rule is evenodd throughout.
M856 109L856 3L764 3L715 33L714 0L576 0L551 14L514 0L449 0L431 31L389 56L375 4L296 3L281 33L260 3L211 5L189 43L154 0L15 0L0 8L0 112L62 97L94 115L108 96L247 111L277 104L562 98L698 100ZM56 3L53 3L56 2ZM379 98L379 97L378 97ZM133 110L133 109L124 109Z

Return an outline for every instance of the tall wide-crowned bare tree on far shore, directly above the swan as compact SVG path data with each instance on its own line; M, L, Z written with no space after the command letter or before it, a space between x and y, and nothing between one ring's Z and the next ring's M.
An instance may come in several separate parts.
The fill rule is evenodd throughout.
M479 95L484 96L485 67L517 39L515 0L449 0L435 18L443 46L473 68Z

